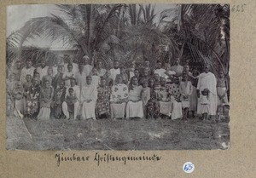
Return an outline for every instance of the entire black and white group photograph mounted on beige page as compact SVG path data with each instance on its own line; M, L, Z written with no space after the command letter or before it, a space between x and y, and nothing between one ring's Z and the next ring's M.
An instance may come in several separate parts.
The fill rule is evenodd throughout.
M229 4L7 8L6 149L230 148Z

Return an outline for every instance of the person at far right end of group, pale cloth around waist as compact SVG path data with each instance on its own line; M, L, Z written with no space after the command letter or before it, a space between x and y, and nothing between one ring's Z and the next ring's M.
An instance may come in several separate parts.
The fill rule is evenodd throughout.
M217 80L217 95L218 95L218 120L224 118L224 106L229 106L228 96L227 96L228 84L224 78L224 72L218 72Z

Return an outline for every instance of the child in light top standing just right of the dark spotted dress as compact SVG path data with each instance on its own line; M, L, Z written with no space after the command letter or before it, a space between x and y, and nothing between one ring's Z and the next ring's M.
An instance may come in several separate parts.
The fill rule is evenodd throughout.
M180 100L183 106L183 118L186 120L190 106L190 95L192 94L192 83L188 80L187 73L183 73L183 79L180 82L179 89L181 92Z

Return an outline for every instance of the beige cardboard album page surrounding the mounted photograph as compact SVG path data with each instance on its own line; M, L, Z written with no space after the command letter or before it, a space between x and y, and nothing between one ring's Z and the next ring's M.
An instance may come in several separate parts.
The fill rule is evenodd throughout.
M125 3L246 3L243 13L230 12L230 150L208 151L147 151L160 155L160 162L68 162L56 166L55 151L7 151L5 149L5 39L6 6L20 3L124 3L123 1L82 0L0 0L0 177L1 178L51 178L51 177L101 177L101 178L172 178L172 177L256 177L256 1L125 1ZM254 151L254 152L253 152ZM72 155L75 151L64 152ZM143 151L100 151L121 156L141 155ZM61 152L59 152L61 153ZM77 151L77 155L91 155L94 151ZM187 161L195 164L191 174L183 172Z

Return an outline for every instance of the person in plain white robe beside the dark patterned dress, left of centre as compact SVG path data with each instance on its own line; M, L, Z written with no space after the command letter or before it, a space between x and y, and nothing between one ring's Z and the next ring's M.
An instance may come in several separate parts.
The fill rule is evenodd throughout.
M96 120L96 100L97 100L97 89L91 83L92 79L90 76L86 77L86 85L81 89L81 117L82 119L92 118Z

